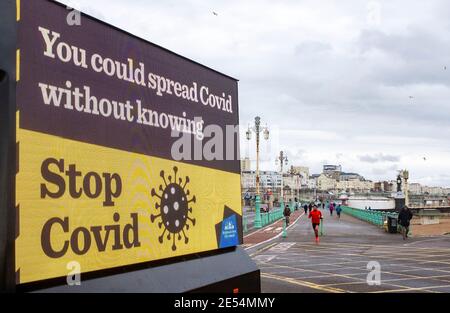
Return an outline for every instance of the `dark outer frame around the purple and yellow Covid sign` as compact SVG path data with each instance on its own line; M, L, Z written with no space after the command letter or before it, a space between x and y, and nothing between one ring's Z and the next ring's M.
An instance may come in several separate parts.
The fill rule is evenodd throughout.
M48 1L66 7L64 4L53 0L40 0ZM61 286L65 283L66 277L58 277L49 280L36 281L30 284L17 285L17 276L19 273L15 271L15 240L18 237L18 210L16 207L16 173L18 172L18 144L16 143L16 80L20 80L20 52L17 50L17 32L18 22L20 21L20 0L7 0L2 1L0 4L0 31L5 34L0 38L0 101L2 104L5 102L7 105L0 107L0 291L14 292L39 290L49 286ZM224 77L228 77L237 82L237 79L220 73L214 69L211 69L205 65L197 63L184 56L178 55L172 51L169 51L163 47L155 45L145 39L130 34L122 29L119 29L113 25L105 23L94 17L82 13L82 17L89 18L97 23L103 24L107 27L125 33L126 35L143 41L146 44L150 44L159 49L162 49L172 55L192 62L205 69L216 72ZM239 120L239 113L237 112L237 119ZM239 147L239 144L238 144ZM13 166L11 166L13 165ZM15 166L14 166L15 165ZM240 164L239 164L240 166ZM148 261L143 263L136 263L131 265L125 265L121 268L107 268L102 270L96 270L86 275L89 279L105 278L117 273L132 272L140 269L152 269L157 270L158 267L165 265L171 266L180 261L192 260L194 263L201 258L207 258L210 256L217 256L226 253L234 253L239 255L240 258L246 256L242 249L234 246L232 248L226 248L223 250L213 250L200 253L193 253L192 255L182 255L179 257L167 258L156 261ZM247 256L248 264L254 264ZM241 260L242 262L243 260ZM219 262L220 263L220 262ZM243 262L245 264L245 262ZM247 264L247 265L248 265ZM197 266L197 265L196 265ZM195 266L194 266L195 267ZM250 266L251 268L251 266ZM224 270L226 274L227 270ZM253 274L252 274L253 273ZM89 274L89 275L88 275ZM253 266L253 271L248 271L245 275L252 274L259 281L259 270ZM84 273L83 273L84 275ZM198 288L204 287L199 283ZM255 287L256 291L259 290L259 284Z

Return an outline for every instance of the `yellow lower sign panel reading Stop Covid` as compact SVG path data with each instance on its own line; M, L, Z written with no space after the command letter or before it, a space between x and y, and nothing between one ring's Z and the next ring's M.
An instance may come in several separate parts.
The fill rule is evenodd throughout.
M23 129L17 139L20 283L65 276L72 261L90 272L214 250L224 208L242 215L239 174Z

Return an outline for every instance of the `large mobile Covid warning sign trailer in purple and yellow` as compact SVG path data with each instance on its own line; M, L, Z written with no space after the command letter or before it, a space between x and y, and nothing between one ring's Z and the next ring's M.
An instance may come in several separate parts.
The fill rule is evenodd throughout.
M237 81L76 13L0 4L1 290L259 292Z

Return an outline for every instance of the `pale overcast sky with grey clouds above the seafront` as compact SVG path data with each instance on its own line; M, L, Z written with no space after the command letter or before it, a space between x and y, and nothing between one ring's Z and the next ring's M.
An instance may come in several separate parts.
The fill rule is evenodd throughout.
M315 173L407 168L411 182L450 187L447 0L65 3L238 78L241 124L260 115L272 130L264 169L282 149Z

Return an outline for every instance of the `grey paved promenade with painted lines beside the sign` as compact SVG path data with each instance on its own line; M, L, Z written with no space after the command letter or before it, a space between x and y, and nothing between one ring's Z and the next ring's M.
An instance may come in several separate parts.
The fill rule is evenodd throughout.
M450 292L449 236L403 241L399 234L325 212L324 236L316 245L301 213L287 238L277 232L278 222L244 239L261 269L263 292ZM269 240L270 232L278 236ZM380 285L367 283L371 261L381 267Z

